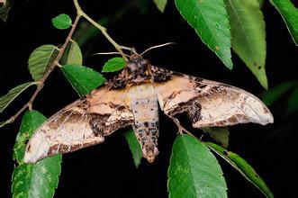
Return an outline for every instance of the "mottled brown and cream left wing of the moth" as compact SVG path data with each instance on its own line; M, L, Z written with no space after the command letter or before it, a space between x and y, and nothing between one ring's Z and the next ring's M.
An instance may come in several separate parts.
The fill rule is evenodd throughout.
M29 140L24 161L35 163L43 157L102 143L104 136L132 124L126 90L108 87L93 91L45 121Z

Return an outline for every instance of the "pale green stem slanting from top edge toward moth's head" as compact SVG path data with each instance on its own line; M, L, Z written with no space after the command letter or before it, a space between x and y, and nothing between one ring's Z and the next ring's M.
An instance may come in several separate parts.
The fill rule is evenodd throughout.
M95 22L95 20L93 20L90 16L88 16L81 8L81 6L78 4L77 0L74 0L74 4L77 8L77 15L81 15L83 16L89 23L92 23L98 30L102 31L102 33L104 34L104 37L109 40L112 44L113 47L119 51L119 53L122 55L122 58L125 59L125 61L128 61L128 59L126 58L125 54L122 51L122 46L119 45L115 40L112 39L112 37L108 34L108 32L106 31L106 28L98 23Z

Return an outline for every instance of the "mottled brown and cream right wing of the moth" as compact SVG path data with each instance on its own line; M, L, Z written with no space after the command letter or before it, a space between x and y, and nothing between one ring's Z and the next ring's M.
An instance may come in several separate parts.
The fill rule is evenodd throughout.
M152 67L161 109L168 115L188 112L194 128L273 122L268 108L255 95L231 85Z

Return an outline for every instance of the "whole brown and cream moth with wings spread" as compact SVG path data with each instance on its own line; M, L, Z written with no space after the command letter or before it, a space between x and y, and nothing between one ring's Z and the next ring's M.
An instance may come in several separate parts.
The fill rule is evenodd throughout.
M104 142L131 125L143 157L158 156L158 105L174 121L187 112L194 128L274 121L253 94L237 87L152 66L134 53L109 83L52 115L27 143L24 161L68 153Z

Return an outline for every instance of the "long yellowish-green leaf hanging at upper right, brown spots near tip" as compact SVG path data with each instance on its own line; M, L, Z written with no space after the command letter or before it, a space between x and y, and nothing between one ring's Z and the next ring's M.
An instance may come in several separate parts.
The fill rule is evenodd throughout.
M259 83L268 88L265 59L266 32L257 0L225 0L230 16L231 48L239 55Z

